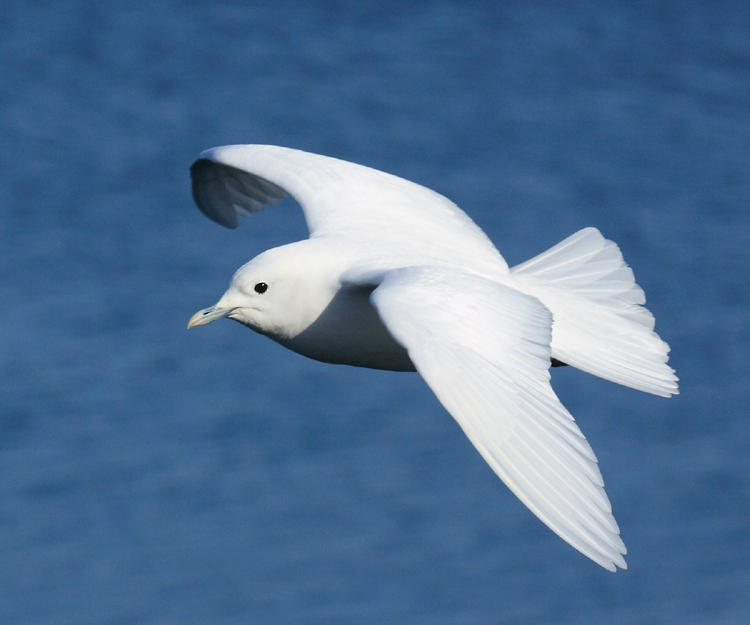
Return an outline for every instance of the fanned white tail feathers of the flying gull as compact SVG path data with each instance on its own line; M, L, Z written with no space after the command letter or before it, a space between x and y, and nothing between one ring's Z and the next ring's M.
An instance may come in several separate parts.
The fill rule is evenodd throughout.
M669 397L679 392L669 345L616 243L585 228L511 269L553 315L552 357L593 375Z

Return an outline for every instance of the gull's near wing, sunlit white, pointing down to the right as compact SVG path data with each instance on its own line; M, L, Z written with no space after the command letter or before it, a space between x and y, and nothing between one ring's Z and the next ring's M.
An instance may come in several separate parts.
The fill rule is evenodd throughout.
M452 269L368 279L385 326L508 488L583 554L626 568L596 456L550 386L547 308Z

